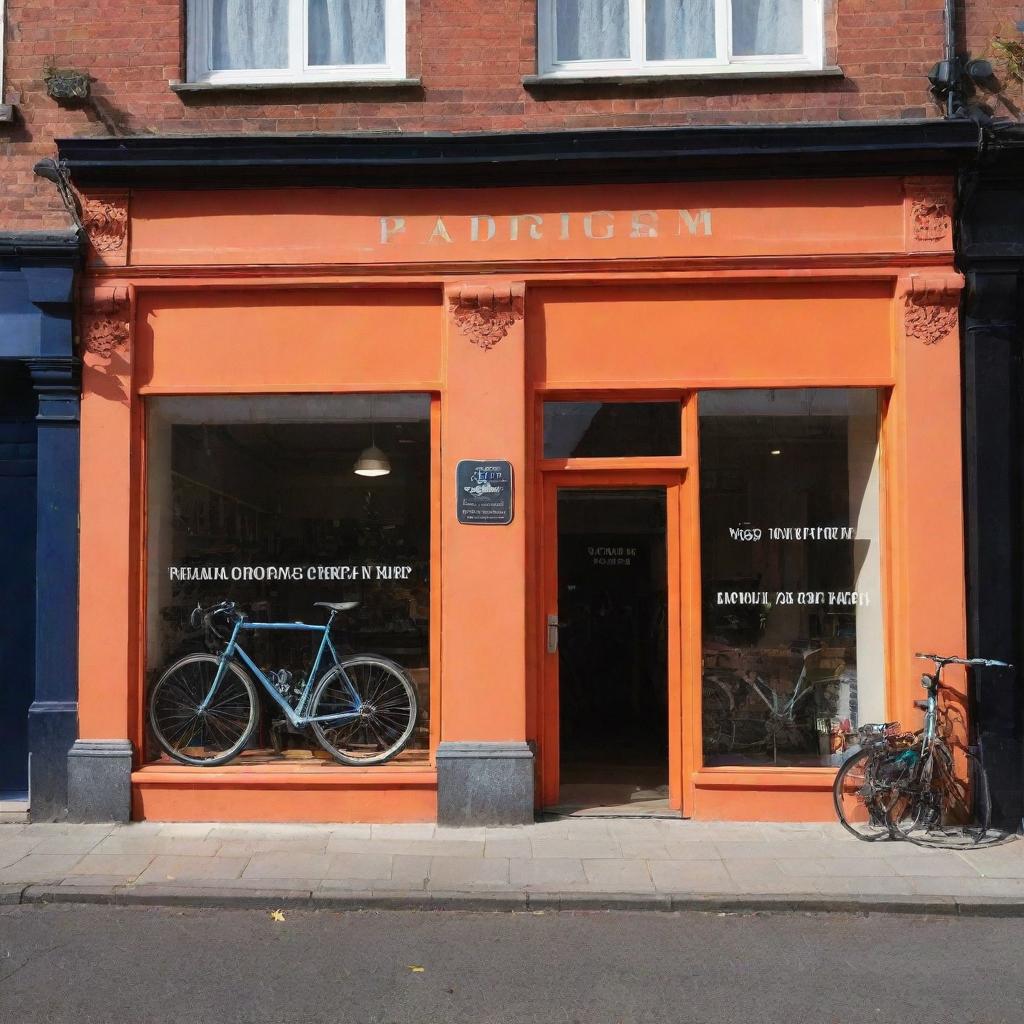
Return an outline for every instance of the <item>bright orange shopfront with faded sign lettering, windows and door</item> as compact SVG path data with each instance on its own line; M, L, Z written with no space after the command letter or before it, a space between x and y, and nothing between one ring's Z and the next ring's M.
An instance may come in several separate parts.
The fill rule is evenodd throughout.
M73 817L827 819L963 652L950 177L78 186ZM351 603L408 745L338 764L261 694L169 757L147 694L220 601ZM249 653L304 685L308 635Z

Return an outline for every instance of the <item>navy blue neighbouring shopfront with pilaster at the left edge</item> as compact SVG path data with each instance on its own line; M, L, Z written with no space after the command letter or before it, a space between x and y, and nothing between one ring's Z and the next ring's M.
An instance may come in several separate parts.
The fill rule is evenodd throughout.
M67 814L78 732L77 233L0 234L0 792Z

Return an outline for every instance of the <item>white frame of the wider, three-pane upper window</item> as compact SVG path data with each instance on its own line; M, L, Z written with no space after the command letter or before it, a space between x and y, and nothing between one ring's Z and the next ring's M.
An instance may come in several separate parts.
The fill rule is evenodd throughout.
M538 73L545 78L627 78L656 75L693 76L750 75L758 73L820 71L824 61L824 0L803 0L804 52L770 56L737 56L732 53L732 2L715 0L715 57L695 60L648 60L645 0L628 0L628 57L600 60L557 60L556 0L538 0Z

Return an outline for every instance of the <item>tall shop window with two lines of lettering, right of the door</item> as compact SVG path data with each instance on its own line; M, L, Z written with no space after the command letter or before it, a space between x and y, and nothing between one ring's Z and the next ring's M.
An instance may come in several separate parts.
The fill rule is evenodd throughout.
M705 764L840 764L885 717L878 392L698 409Z

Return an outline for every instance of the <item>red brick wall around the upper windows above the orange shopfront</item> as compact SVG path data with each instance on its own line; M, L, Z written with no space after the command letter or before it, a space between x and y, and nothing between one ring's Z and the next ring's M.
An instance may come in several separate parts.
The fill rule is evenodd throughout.
M970 5L970 4L969 4ZM982 4L978 3L981 7ZM507 131L935 116L928 68L941 56L942 0L830 0L827 62L842 78L526 88L536 0L409 0L409 75L422 88L183 96L183 0L7 0L0 126L0 230L63 225L32 165L55 135L291 131ZM91 74L101 116L46 96L48 67Z

